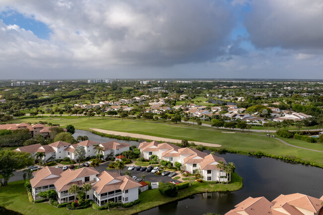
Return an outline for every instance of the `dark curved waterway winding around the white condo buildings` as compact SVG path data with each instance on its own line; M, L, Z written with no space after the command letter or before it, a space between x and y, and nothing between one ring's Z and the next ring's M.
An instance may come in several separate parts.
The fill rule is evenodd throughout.
M86 135L99 143L114 139L77 130L74 137ZM138 142L126 142L138 145ZM239 154L220 154L227 162L236 164L236 172L243 178L243 188L231 193L204 193L168 203L139 215L203 215L207 212L224 215L244 199L266 197L269 201L280 194L303 193L316 198L323 195L323 169L278 159L248 157ZM322 157L323 159L323 157Z

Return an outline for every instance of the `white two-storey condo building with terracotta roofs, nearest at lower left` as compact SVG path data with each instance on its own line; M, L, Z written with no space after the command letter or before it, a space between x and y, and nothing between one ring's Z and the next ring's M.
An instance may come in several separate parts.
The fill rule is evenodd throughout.
M128 175L121 176L106 171L99 173L93 167L63 171L61 168L46 166L33 173L33 176L30 180L33 199L39 199L39 192L53 189L57 192L59 204L75 200L74 194L69 193L73 184L80 188L84 184L91 184L92 189L87 192L87 199L93 200L98 206L110 201L133 202L138 199L138 188L142 187L142 184Z

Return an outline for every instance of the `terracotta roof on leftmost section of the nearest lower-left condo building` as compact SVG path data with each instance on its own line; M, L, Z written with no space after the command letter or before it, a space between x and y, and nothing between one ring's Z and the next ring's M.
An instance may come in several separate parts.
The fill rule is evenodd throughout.
M32 188L54 184L63 172L61 168L45 166L34 173L34 178L30 180Z

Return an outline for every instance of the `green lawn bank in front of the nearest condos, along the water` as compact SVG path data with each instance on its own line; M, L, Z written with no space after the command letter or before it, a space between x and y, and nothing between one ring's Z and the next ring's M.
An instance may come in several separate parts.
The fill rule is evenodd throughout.
M55 208L48 203L33 204L28 200L24 188L24 181L9 182L8 186L0 188L0 207L19 212L24 215L132 215L165 203L183 199L193 194L217 191L235 191L242 188L242 178L232 174L233 183L208 184L193 182L192 186L179 190L177 197L169 198L160 194L158 189L148 190L139 195L141 203L129 209L115 209L111 211L94 211L91 207L87 209L68 211L66 208Z

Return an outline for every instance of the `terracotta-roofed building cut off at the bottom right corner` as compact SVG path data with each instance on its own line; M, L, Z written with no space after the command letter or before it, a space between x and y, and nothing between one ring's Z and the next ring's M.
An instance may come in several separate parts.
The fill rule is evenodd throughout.
M280 195L272 202L249 197L225 215L323 215L323 196L317 199L294 193Z

